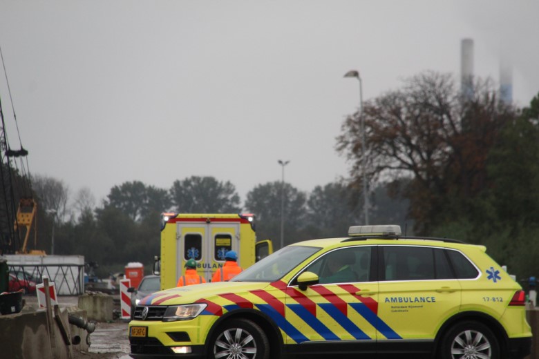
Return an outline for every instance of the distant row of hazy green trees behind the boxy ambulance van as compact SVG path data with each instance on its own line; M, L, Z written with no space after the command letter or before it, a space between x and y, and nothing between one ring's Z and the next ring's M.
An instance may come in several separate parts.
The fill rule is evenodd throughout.
M68 188L61 180L35 176L33 184L41 203L39 249L50 253L54 226L55 255L84 255L98 264L98 275L120 271L128 262L148 266L160 254L160 213L254 213L258 240L271 239L278 249L281 231L281 195L284 199L284 244L313 237L346 236L348 227L359 224L361 211L354 193L343 182L316 186L306 193L285 182L255 186L240 202L231 182L214 177L191 176L173 182L171 188L156 188L140 181L113 186L106 199L94 206L88 191L79 191L68 206ZM55 188L56 191L51 191ZM282 192L281 192L282 191ZM407 204L392 200L381 186L375 195L393 204L393 218L386 207L373 206L381 222L406 221ZM53 211L50 209L53 208Z

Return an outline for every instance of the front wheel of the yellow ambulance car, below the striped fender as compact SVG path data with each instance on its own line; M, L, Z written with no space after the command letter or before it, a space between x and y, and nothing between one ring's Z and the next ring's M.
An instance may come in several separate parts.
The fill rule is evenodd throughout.
M269 359L269 341L251 320L233 319L216 331L209 347L210 359Z

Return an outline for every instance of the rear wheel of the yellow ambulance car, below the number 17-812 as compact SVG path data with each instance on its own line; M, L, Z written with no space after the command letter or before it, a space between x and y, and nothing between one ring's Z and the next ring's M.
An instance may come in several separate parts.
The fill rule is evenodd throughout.
M444 336L439 357L443 359L500 359L498 340L480 322L460 322Z

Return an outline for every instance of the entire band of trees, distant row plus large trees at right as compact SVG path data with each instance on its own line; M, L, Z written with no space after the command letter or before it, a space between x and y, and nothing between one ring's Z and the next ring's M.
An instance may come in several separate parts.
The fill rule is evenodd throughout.
M278 246L281 195L285 244L345 236L361 224L368 195L370 224L483 244L518 278L539 274L539 94L519 108L500 101L488 79L463 94L452 75L422 72L346 117L336 145L350 163L348 177L310 192L258 184L243 202L231 182L190 176L170 188L125 182L95 205L88 189L68 198L61 179L35 176L38 246L48 251L54 225L55 254L81 254L106 269L151 264L162 211L251 212L258 239Z

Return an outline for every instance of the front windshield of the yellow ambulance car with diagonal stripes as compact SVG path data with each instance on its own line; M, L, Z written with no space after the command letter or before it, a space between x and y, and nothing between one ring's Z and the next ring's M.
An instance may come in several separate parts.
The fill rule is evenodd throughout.
M230 282L275 282L320 249L314 246L286 246L249 266Z

